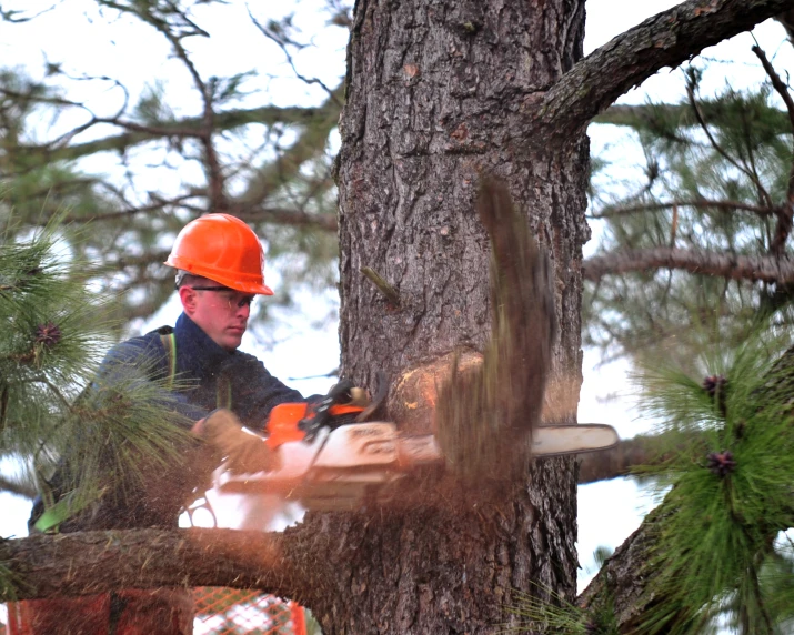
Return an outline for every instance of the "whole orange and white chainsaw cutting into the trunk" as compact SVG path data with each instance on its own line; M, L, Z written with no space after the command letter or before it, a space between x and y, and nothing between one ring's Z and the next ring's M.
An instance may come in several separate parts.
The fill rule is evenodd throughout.
M389 492L394 491L388 486L411 472L443 467L444 457L432 434L405 434L392 422L366 421L383 402L383 391L368 406L339 403L339 394L349 386L340 382L319 405L273 407L263 443L277 453L280 467L257 474L224 472L219 476L220 490L279 494L300 501L308 510L351 511L373 500L388 503ZM617 441L610 425L540 425L532 433L531 454L580 454L607 450Z

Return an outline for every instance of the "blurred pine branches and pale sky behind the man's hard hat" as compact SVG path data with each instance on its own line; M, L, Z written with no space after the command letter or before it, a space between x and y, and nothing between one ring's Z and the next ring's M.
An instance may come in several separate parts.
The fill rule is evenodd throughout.
M73 19L80 9L48 4L4 2L4 28L43 26L66 11ZM161 68L139 69L144 80L130 82L124 69L111 77L107 64L73 61L42 40L39 67L0 72L0 213L13 210L26 231L67 209L63 239L91 263L87 279L94 291L120 294L113 315L119 326L151 316L171 296L172 274L161 263L177 232L208 212L238 215L267 236L278 303L294 303L299 289L333 289L331 161L343 103L348 7L335 0L308 4L300 16L272 18L272 7L258 16L240 3L207 0L81 2L84 20L101 24L109 43L133 33L138 48L159 51ZM237 20L241 33L248 29L241 46L258 36L250 54L227 64L242 60L247 68L213 74L219 64L208 52L210 33L199 26L209 19ZM316 32L303 31L305 22L323 29L321 43ZM336 63L324 64L316 77L303 74L304 59L320 44L319 54L335 56ZM267 74L280 67L288 77ZM300 85L285 90L289 79ZM73 240L89 222L84 240ZM333 295L328 293L331 312ZM273 303L259 306L260 323L268 306Z

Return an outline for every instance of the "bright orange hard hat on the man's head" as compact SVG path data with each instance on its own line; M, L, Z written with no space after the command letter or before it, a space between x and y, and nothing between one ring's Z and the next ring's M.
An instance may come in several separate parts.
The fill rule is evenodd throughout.
M229 214L207 214L184 225L165 264L237 291L273 295L264 284L262 243Z

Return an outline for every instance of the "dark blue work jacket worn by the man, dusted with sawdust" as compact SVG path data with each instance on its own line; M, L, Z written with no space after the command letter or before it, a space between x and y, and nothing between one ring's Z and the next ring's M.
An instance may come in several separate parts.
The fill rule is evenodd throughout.
M165 349L163 335L173 336L173 357ZM172 360L175 369L170 366ZM219 346L184 313L173 329L161 327L113 346L100 366L93 390L112 386L130 376L142 381L165 380L165 384L172 376L174 390L163 404L185 415L185 426L224 406L244 425L261 431L273 406L305 401L301 393L271 375L253 355ZM177 450L184 461L170 468L141 457L139 466L144 477L135 483L109 474L108 483L113 486L63 521L60 531L175 527L191 493L211 484L211 473L221 458L214 448L198 439L185 439L184 447ZM67 493L69 473L67 458L50 482L56 500ZM31 527L42 513L39 498L33 505Z

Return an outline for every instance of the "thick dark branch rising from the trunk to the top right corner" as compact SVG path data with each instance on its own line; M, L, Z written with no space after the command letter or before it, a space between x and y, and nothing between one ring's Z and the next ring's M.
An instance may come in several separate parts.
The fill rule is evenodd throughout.
M539 118L572 134L664 67L794 7L793 0L690 0L657 13L577 62L543 98Z

